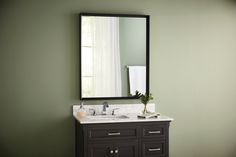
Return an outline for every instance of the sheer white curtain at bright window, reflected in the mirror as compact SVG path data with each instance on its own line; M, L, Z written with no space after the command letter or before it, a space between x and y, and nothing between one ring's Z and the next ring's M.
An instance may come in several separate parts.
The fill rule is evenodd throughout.
M83 96L121 96L119 18L83 17L82 22Z

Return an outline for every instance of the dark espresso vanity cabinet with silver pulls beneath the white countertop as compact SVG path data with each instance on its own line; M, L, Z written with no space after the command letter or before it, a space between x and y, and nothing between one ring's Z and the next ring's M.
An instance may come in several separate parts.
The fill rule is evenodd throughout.
M76 157L168 157L169 123L76 121Z

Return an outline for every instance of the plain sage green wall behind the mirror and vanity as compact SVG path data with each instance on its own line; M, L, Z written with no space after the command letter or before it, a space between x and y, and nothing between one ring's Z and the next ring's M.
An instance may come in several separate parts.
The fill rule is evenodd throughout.
M235 1L0 3L1 157L74 157L82 11L151 15L151 91L175 118L170 157L236 156Z

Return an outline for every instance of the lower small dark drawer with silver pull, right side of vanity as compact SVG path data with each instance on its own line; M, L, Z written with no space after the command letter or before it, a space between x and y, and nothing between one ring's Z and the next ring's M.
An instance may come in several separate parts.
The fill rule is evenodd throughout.
M166 155L165 141L142 142L142 157L163 157Z

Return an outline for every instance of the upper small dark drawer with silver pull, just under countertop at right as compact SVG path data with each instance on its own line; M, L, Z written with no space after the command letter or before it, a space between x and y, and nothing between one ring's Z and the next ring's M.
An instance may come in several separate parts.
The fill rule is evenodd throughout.
M143 137L165 137L166 129L165 125L143 126Z

